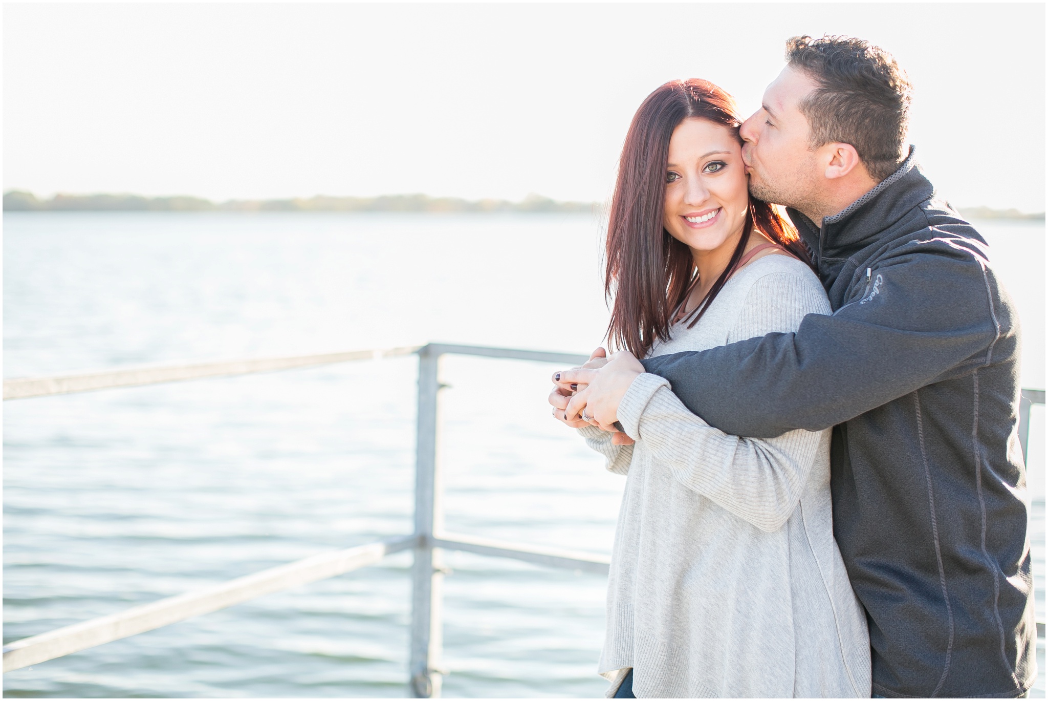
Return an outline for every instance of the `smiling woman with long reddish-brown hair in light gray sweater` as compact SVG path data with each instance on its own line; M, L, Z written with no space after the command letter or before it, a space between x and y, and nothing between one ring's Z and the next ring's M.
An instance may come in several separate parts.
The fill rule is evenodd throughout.
M795 231L749 196L740 124L702 80L667 83L633 119L606 291L609 339L638 358L830 313ZM729 436L642 374L613 434L565 413L574 391L572 407L585 386L554 390L554 416L627 475L598 670L609 696L869 698L866 618L833 540L830 431Z

